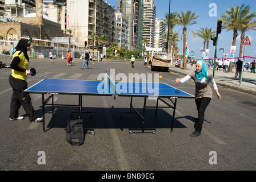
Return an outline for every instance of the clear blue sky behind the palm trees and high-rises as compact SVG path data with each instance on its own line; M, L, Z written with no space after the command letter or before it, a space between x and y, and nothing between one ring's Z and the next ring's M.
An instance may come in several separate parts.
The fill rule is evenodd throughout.
M191 30L195 32L197 30L200 30L201 27L208 27L212 28L212 30L215 31L217 28L217 20L221 17L221 14L224 13L227 9L230 9L232 5L241 6L243 2L245 3L245 5L249 5L251 7L251 12L256 12L256 0L171 0L170 11L171 13L181 13L181 10L185 12L191 10L191 13L199 15L199 17L196 19L197 24L194 24L189 27ZM107 3L110 3L112 6L115 6L116 9L117 0L107 0ZM157 6L157 18L165 19L163 15L165 13L169 13L169 0L155 0L154 3ZM214 7L210 6L211 3L215 3ZM213 12L213 10L215 10L215 12L217 11L216 16L210 15L211 12ZM182 34L181 28L181 26L175 27L175 30L179 31L179 35ZM239 35L236 41L237 48L235 50L235 57L239 56L240 33L238 32L238 34ZM248 31L246 32L245 36L248 36L251 42L251 46L246 46L245 55L256 57L256 31ZM223 51L219 51L220 48L224 48L224 52L230 53L232 39L233 31L227 32L226 30L222 30L221 34L218 35L217 57L222 57ZM187 40L187 44L189 46L189 53L191 54L191 51L194 51L194 55L197 56L196 58L201 58L201 50L203 49L203 39L197 37L197 40L193 40L193 35L190 31L190 36L189 39ZM180 49L180 52L183 52L182 41L178 43L178 47ZM214 57L215 47L213 46L212 40L210 40L209 49L209 57ZM246 58L246 62L247 61L253 61L253 59Z

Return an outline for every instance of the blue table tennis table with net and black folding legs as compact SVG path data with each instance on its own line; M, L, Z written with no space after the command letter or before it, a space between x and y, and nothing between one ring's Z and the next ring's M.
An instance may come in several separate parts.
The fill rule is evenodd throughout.
M114 96L114 99L119 97L130 97L130 109L129 111L121 112L129 114L138 114L142 119L141 129L129 129L130 133L133 130L153 130L144 127L145 124L145 110L146 108L155 108L155 117L157 116L158 108L171 108L173 109L173 117L171 119L171 131L173 131L175 109L177 105L177 98L194 98L193 95L183 92L173 86L165 83L147 83L147 82L113 82L109 77L107 81L91 81L91 80L71 80L71 79L59 79L59 78L45 78L37 84L30 86L24 92L42 94L42 117L43 117L43 132L45 132L45 106L51 105L52 114L54 116L55 106L76 106L79 107L77 112L78 117L81 118L81 113L91 113L91 111L82 110L82 96ZM45 99L45 94L49 96ZM55 94L66 95L78 95L78 105L65 105L55 104ZM133 106L133 97L143 97L143 112L142 114ZM156 106L146 106L146 100L149 97L157 99ZM166 99L167 98L167 101ZM165 99L165 100L164 100ZM51 104L48 102L51 100ZM166 106L158 106L158 102L162 101ZM93 133L93 129L91 129Z

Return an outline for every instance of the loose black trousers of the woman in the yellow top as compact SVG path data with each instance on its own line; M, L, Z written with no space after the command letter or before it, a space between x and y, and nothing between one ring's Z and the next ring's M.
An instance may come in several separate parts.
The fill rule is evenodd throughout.
M10 118L17 118L19 116L19 108L22 106L29 117L29 121L34 121L38 117L32 106L31 98L29 93L23 92L27 89L27 82L25 80L14 78L11 75L9 77L9 82L13 88L13 96L11 96L10 104Z

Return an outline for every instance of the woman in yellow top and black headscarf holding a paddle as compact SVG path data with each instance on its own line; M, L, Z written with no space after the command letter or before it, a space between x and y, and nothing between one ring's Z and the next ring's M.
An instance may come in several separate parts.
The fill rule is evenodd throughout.
M27 55L27 51L31 49L31 43L27 39L21 39L16 49L10 64L9 83L13 88L13 95L11 96L9 119L10 121L23 119L23 116L19 116L19 108L22 106L30 122L42 122L43 119L35 113L29 93L24 92L27 89L27 75L32 74L29 71L29 56Z

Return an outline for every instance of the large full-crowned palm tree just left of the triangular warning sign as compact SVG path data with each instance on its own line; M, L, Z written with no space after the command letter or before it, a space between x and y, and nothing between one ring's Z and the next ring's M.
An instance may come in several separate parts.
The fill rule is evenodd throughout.
M245 18L250 11L249 5L245 6L243 3L241 6L231 6L231 9L227 9L225 13L221 15L219 20L222 21L222 28L226 28L226 31L233 30L232 46L235 46L235 39L238 36L239 27L244 26L242 19ZM230 61L229 72L232 72L233 62Z

